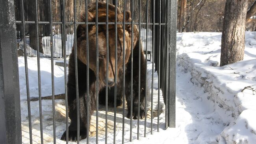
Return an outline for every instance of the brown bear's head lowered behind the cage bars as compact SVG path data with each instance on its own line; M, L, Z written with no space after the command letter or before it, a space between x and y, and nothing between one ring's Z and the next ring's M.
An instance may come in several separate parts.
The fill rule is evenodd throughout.
M134 25L133 40L131 40L132 27L130 24L125 25L124 38L123 38L123 24L117 24L117 39L115 35L115 6L109 4L108 22L112 23L108 25L108 46L109 46L109 61L107 61L107 34L106 24L98 25L98 63L99 63L99 79L104 85L113 86L115 75L119 75L119 70L123 66L123 53L125 55L125 64L128 63L131 49L134 49L138 41L138 29ZM80 22L86 22L85 11L80 14ZM95 3L88 5L87 13L88 22L96 22L96 6ZM125 20L123 20L123 13L117 8L117 22L131 22L131 13L126 11ZM98 22L106 22L106 3L98 3ZM88 25L88 37L89 37L89 68L93 70L96 76L96 25ZM124 43L123 43L124 39ZM77 50L78 59L87 64L87 50L86 50L86 25L80 24L77 27ZM117 47L115 47L117 43ZM133 48L131 47L133 43ZM117 50L117 59L116 59ZM107 77L107 63L108 63L108 83L106 83ZM117 64L117 65L116 65ZM117 70L115 71L115 67ZM115 73L116 72L116 73Z

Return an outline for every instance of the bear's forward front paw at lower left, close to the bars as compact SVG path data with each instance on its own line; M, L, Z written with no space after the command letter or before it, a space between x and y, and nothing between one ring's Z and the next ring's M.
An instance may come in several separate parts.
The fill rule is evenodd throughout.
M79 140L86 138L86 130L80 130L80 137ZM66 131L63 133L61 140L67 140L66 139ZM77 141L77 131L76 130L69 130L69 139L70 141Z

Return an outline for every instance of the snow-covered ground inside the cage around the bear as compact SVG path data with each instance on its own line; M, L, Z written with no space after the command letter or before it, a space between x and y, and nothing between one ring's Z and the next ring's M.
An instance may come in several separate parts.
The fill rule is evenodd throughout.
M56 60L60 61L60 60ZM41 63L41 93L42 97L51 95L51 67L50 59L42 58ZM55 61L54 61L55 62ZM151 77L152 77L152 63L148 62L148 112L147 112L147 133L150 133L150 118L151 118ZM26 77L24 69L24 57L19 57L19 75L20 75L20 97L21 97L21 121L22 121L22 142L24 144L29 143L29 123L28 123L28 103L26 101ZM37 58L28 58L28 76L30 85L30 97L38 97L38 77L37 77ZM157 130L158 122L158 83L157 73L154 73L154 85L153 85L153 130ZM54 65L54 87L55 94L65 93L64 87L64 68ZM39 117L39 101L30 101L31 117L32 117L32 139L34 143L40 143L40 117ZM160 90L160 128L165 127L165 115L164 115L164 103L162 92ZM61 135L66 129L66 111L65 100L58 99L55 101L56 112L56 137L57 143L65 143L60 140ZM52 117L52 100L42 100L42 119L43 119L43 138L45 143L53 142L53 117ZM99 141L105 142L105 106L99 106ZM127 115L127 108L125 111ZM114 109L108 108L108 142L113 143L113 126L114 126ZM69 121L70 122L70 121ZM116 141L122 142L122 106L117 108L117 121L116 121ZM96 112L93 114L90 126L90 140L94 144L96 140ZM137 139L137 120L132 120L132 139ZM140 137L144 135L144 120L140 120ZM125 142L130 140L130 119L125 117ZM81 142L86 142L82 140ZM71 142L72 143L72 142ZM75 143L75 142L73 142Z

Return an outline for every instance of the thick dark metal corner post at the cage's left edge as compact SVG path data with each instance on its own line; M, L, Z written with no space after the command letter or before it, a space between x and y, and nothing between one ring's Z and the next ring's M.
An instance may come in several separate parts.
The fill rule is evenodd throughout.
M0 142L21 144L14 0L0 0Z

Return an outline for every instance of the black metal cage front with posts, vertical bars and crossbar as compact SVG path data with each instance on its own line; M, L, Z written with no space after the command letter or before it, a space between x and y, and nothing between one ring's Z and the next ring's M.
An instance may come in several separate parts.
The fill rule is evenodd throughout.
M75 5L75 1L74 0L74 9L76 9L76 5ZM89 1L89 0L88 0ZM88 5L88 1L85 0L85 7L86 5ZM154 6L154 10L155 10L155 0L153 0L154 3L152 4ZM37 2L37 0L35 0L35 2ZM51 0L50 0L51 2ZM63 2L61 0L61 2ZM98 0L96 0L96 2L98 2ZM108 0L107 0L108 2ZM113 3L115 2L116 5L118 5L118 1L117 0L113 0ZM163 69L163 72L160 72L159 74L161 76L163 76L164 78L160 78L161 80L163 80L163 85L161 85L161 88L164 89L164 100L165 100L165 128L168 127L175 127L175 98L176 98L176 16L177 16L177 1L176 0L167 0L167 5L163 5L160 4L160 12L161 12L161 5L165 6L164 9L167 11L166 14L166 18L167 18L167 22L166 23L162 23L161 22L161 17L160 17L160 22L152 22L152 23L141 23L140 21L138 23L135 22L131 22L131 23L126 23L126 22L117 22L115 21L113 22L85 22L85 23L81 23L81 22L76 22L76 20L74 20L74 22L65 22L65 20L62 20L62 22L53 22L52 21L52 16L50 18L50 22L39 22L38 17L34 22L29 22L29 21L25 21L24 18L24 5L22 6L22 21L17 21L15 20L15 5L14 5L14 0L1 0L0 1L0 8L3 10L1 12L0 15L0 94L1 94L1 101L0 101L0 142L3 143L8 143L8 144L21 144L22 142L22 136L21 136L21 118L20 118L20 94L19 94L19 68L18 68L18 60L17 60L17 43L16 43L16 24L22 24L23 27L23 34L25 33L25 26L26 24L29 23L33 23L36 25L36 31L37 31L37 45L39 45L39 24L50 24L50 27L52 27L52 24L61 24L61 29L62 29L62 33L63 35L65 35L65 30L64 27L67 24L74 24L74 29L76 28L76 24L95 24L96 27L97 25L100 24L115 24L115 27L117 26L117 24L138 24L139 27L141 24L146 24L147 25L147 29L148 29L148 25L159 25L160 26L160 32L159 34L161 34L161 25L166 25L166 29L164 30L166 32L166 35L164 35L164 47L165 49L162 48L163 52L161 54L165 55L165 68ZM22 0L22 4L23 0ZM124 1L125 4L125 1ZM132 3L134 4L134 3ZM140 4L140 3L139 3ZM63 9L65 9L65 4L62 4ZM96 4L97 7L97 4ZM131 6L133 7L133 6ZM37 7L36 7L37 9ZM50 8L51 10L51 8ZM117 8L116 8L117 10ZM125 10L125 7L124 7ZM96 10L97 11L97 10ZM51 11L50 11L51 12ZM65 18L65 13L64 10L61 12L62 16ZM50 14L51 15L51 14ZM76 15L76 12L74 11L74 15ZM87 17L87 15L86 15ZM155 17L155 15L154 15ZM139 28L140 30L140 28ZM74 41L76 41L76 31L75 32L75 38ZM96 31L96 35L97 35ZM140 31L139 31L140 32ZM147 31L148 32L148 31ZM53 34L52 34L52 29L50 29L50 37L51 37L51 42L53 42ZM108 32L106 32L108 35ZM88 27L87 27L87 34L88 34ZM155 36L156 33L153 34L153 36ZM140 34L139 34L140 35ZM117 34L116 34L117 36ZM23 40L25 41L26 37L23 37ZM140 37L139 37L140 38ZM96 40L98 41L98 40ZM124 42L124 41L123 41ZM65 36L62 37L62 44L65 43ZM76 42L75 42L76 43ZM163 44L161 41L156 42L156 45L162 46ZM26 44L24 44L26 45ZM117 45L117 42L116 42ZM26 46L25 46L26 47ZM65 51L65 44L63 45L64 49L63 51ZM75 46L76 47L76 46ZM116 46L117 47L117 46ZM154 47L154 46L153 46ZM51 49L53 50L53 49ZM88 50L88 45L87 45L87 50ZM26 48L24 50L24 54L25 54L25 61L26 61ZM146 50L146 60L147 60L147 52L148 50ZM66 54L64 52L64 54ZM160 52L158 53L160 55ZM154 52L153 52L154 55ZM153 56L154 57L154 56ZM66 56L63 55L64 58L64 65L65 65L65 94L66 94L66 103L67 103L67 74L66 74ZM89 58L89 56L87 56L87 58ZM151 58L151 55L150 55ZM157 58L157 57L156 57ZM160 57L158 63L160 63ZM39 76L39 87L40 87L40 63L39 63L39 47L37 47L37 60L38 60L38 76ZM53 51L51 52L51 66L52 66L52 101L53 101L53 107L54 106L54 70L53 70ZM98 59L98 56L97 56ZM154 60L153 60L154 61ZM11 65L10 65L11 63ZM26 63L26 62L25 62ZM76 62L77 63L77 62ZM25 64L27 67L27 64ZM147 65L147 62L146 62ZM98 64L97 64L97 68L98 68ZM26 68L25 68L26 69ZM76 64L76 69L77 69L77 64ZM154 69L153 69L154 70ZM77 71L77 70L76 70ZM26 77L28 72L26 69ZM160 76L159 76L160 77ZM77 76L76 76L76 84L77 83ZM28 79L27 79L27 87L29 86L28 84ZM87 85L89 83L89 79L87 79ZM160 86L160 82L159 82L159 86ZM98 87L98 86L97 86ZM89 86L87 87L89 88ZM78 92L78 90L77 90ZM89 91L87 91L89 92ZM106 92L107 93L107 92ZM30 104L29 104L29 90L27 90L27 94L28 94L28 110L30 110ZM106 94L107 95L107 94ZM116 94L115 94L116 95ZM77 93L77 97L78 97L78 93ZM116 97L116 96L115 96ZM98 98L98 97L97 97ZM124 96L123 96L124 98ZM78 100L78 98L77 98ZM116 99L115 99L116 100ZM98 100L96 101L96 103L98 102ZM123 101L124 102L124 101ZM106 99L106 103L108 103L108 100ZM145 102L146 103L146 102ZM39 105L41 105L41 92L39 90ZM88 105L88 104L87 104ZM98 106L98 103L96 104L96 106ZM79 104L78 104L79 107ZM108 111L108 106L106 106L106 112ZM67 107L66 107L67 108ZM87 109L88 110L88 109ZM116 108L115 108L116 110ZM124 109L123 109L124 110ZM159 109L158 109L159 110ZM40 110L42 111L42 110ZM55 110L53 109L53 115L55 117ZM66 109L67 112L67 109ZM78 110L79 112L79 110ZM98 112L98 107L96 108L96 112ZM30 112L29 112L30 113ZM40 112L40 114L42 114L42 112ZM30 118L30 114L29 114L29 125L30 125L30 134L32 134L32 129L31 129L31 118ZM97 117L98 118L98 117ZM54 118L55 119L55 118ZM67 117L68 119L68 117ZM78 119L79 119L79 115L78 115ZM152 120L152 119L151 119ZM40 119L40 121L42 121ZM53 120L54 121L54 120ZM108 118L106 116L106 122L108 121ZM138 120L139 121L139 120ZM124 122L124 121L123 121ZM132 122L132 121L131 121ZM54 123L55 124L55 123ZM124 124L124 123L123 123ZM78 126L79 126L79 120L78 120ZM87 126L88 126L88 122L87 122ZM138 124L139 126L139 124ZM145 119L145 126L146 126L146 119ZM68 130L68 124L66 125L66 128ZM115 126L114 126L115 128ZM159 128L158 128L159 129ZM54 125L54 130L55 131L55 125ZM87 143L89 142L89 135L88 132L89 130L87 129ZM132 133L132 132L131 132ZM98 134L98 131L97 131ZM106 136L107 136L107 130L106 130ZM151 124L151 134L152 134L152 124ZM78 136L79 136L79 130L78 130ZM144 136L146 137L146 129L145 129L145 133ZM96 143L98 142L97 139L98 136L96 136ZM131 135L130 135L130 140L131 140ZM139 128L138 128L138 133L137 133L137 139L139 139ZM42 137L42 131L41 131L41 142L43 140ZM30 139L30 143L32 143L32 139ZM56 134L54 132L54 143L56 143ZM68 141L67 141L68 143ZM79 140L78 140L79 143ZM106 139L106 143L107 143L107 139ZM114 135L114 143L115 143L115 135ZM122 143L124 143L124 134L122 135Z

